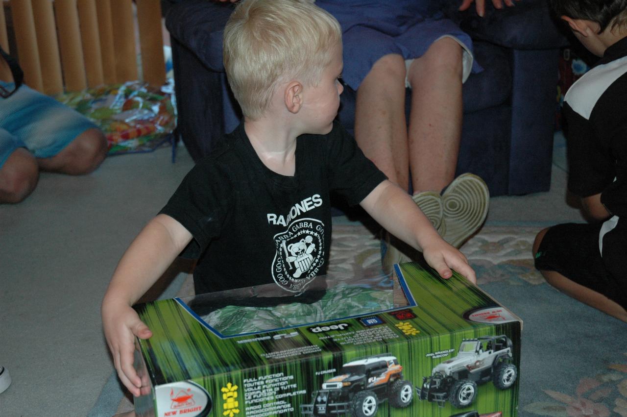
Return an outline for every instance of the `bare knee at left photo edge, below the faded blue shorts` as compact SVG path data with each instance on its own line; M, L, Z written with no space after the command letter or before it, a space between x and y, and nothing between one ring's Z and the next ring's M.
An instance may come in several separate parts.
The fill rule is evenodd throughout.
M26 149L16 149L0 169L0 203L19 203L37 186L39 168Z

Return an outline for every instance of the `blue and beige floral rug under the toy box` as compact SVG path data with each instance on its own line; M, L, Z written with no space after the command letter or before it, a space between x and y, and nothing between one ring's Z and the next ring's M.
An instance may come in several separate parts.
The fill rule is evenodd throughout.
M519 416L627 417L627 325L566 297L534 268L538 227L484 226L461 248L479 287L524 321ZM334 218L329 273L372 276L377 231ZM179 296L190 295L191 280ZM118 412L132 409L123 399Z

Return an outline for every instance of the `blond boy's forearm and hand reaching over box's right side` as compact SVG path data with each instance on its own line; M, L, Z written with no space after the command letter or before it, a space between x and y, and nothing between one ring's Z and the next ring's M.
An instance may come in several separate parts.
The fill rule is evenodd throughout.
M400 187L383 181L360 203L383 228L416 250L442 278L450 278L451 269L477 283L475 272L460 251L444 241L416 203Z

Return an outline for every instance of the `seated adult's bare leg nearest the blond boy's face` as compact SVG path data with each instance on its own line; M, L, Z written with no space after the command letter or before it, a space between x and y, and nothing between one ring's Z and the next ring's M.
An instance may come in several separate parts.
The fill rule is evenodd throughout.
M355 139L390 181L408 189L405 73L400 55L385 55L374 63L357 89Z

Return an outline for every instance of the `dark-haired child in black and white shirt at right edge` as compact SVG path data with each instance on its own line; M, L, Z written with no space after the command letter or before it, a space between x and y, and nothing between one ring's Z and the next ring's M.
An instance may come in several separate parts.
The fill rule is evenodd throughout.
M564 98L568 187L599 223L540 231L535 267L564 293L627 322L627 1L551 3L602 57Z

